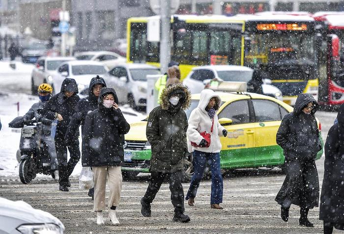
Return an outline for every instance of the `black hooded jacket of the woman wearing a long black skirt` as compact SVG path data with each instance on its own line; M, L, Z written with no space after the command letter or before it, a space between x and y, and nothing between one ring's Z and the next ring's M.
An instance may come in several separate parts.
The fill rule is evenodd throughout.
M302 109L309 103L315 107L311 114ZM315 158L321 150L319 130L315 120L318 104L311 94L301 93L297 96L294 111L285 115L276 134L276 142L282 147L286 159L302 160Z

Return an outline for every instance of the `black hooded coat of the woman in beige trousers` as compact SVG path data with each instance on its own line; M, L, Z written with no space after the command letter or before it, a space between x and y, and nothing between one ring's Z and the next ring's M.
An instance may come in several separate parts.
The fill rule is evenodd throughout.
M103 105L103 97L108 94L113 94L115 103L118 103L115 89L102 88L98 108L86 115L82 144L83 166L120 166L124 160L124 134L128 133L130 125L119 109Z

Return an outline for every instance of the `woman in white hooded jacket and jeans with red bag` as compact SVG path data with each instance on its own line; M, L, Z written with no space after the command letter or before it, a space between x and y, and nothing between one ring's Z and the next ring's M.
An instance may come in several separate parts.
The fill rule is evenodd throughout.
M194 175L185 197L189 206L195 205L197 189L208 163L211 170L210 208L223 209L219 205L222 203L223 197L223 180L220 170L220 136L227 136L228 132L220 125L216 114L220 104L221 98L213 90L204 89L201 91L197 108L190 114L187 136L189 139L189 152L193 152ZM204 131L210 134L210 138L207 140L200 134Z

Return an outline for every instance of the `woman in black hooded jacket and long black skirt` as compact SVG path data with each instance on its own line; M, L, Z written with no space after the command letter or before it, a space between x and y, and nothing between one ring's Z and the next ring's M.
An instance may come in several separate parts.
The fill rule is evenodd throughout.
M286 179L275 201L281 205L281 218L287 222L291 204L300 207L299 224L313 227L308 211L318 206L319 179L315 157L321 150L315 120L318 104L311 94L297 96L294 111L285 115L276 134L276 141L285 156Z

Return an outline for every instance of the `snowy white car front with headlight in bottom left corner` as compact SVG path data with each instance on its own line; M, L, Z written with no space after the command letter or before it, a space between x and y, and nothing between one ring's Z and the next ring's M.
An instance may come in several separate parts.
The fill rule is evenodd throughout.
M52 214L32 208L23 201L11 201L0 197L0 233L63 234L64 225Z

